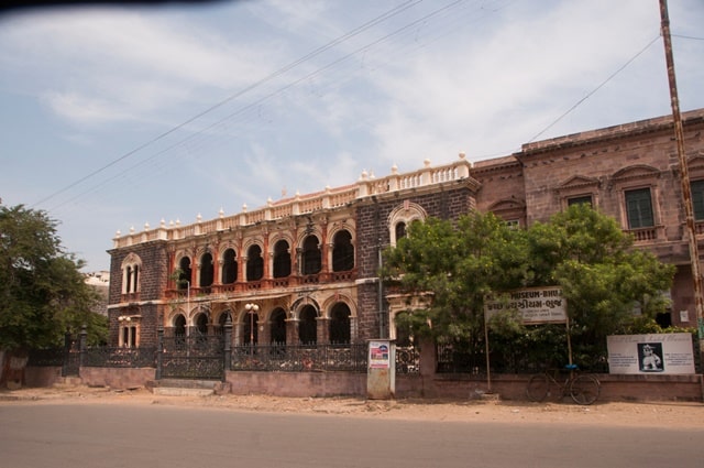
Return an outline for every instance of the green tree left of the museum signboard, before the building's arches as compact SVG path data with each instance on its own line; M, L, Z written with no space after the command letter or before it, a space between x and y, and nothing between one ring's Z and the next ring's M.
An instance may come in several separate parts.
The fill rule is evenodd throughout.
M473 211L457 224L413 222L408 236L385 251L382 277L404 294L431 295L426 309L404 315L400 325L441 342L475 346L483 337L484 296L524 285L528 266L525 233Z

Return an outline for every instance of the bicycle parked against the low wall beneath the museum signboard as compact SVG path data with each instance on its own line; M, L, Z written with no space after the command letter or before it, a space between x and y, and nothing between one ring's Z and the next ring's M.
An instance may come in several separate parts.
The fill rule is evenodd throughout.
M588 373L578 373L576 364L568 364L564 367L570 373L560 382L557 379L558 370L546 370L544 372L531 376L526 387L526 395L528 400L535 402L543 401L550 393L551 387L557 387L561 391L561 395L570 395L576 404L592 404L600 395L602 384L598 379Z

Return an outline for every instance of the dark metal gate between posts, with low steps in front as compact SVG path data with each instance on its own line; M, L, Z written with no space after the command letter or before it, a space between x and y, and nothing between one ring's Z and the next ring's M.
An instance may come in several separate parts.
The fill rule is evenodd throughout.
M176 335L163 338L158 359L162 379L224 379L222 335Z

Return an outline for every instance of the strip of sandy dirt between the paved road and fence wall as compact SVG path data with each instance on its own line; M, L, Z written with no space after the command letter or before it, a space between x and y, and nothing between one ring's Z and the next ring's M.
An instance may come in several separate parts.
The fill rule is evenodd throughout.
M647 427L704 428L704 404L696 402L605 402L591 406L501 400L364 400L355 398L282 398L267 395L165 396L146 389L111 390L82 385L0 391L8 404L158 404L229 411L262 411L349 417L486 422L570 423Z

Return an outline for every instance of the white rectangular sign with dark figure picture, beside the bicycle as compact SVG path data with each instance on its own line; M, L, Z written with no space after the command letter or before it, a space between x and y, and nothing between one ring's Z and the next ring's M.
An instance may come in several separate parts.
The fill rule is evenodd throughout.
M690 334L612 335L609 373L694 373Z

